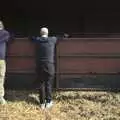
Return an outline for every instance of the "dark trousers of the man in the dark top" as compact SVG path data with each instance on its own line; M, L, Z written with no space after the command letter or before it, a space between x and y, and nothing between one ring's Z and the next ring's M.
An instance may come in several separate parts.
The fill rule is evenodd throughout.
M54 78L54 64L43 63L39 65L38 75L39 75L39 94L40 102L51 101L52 99L52 83Z

